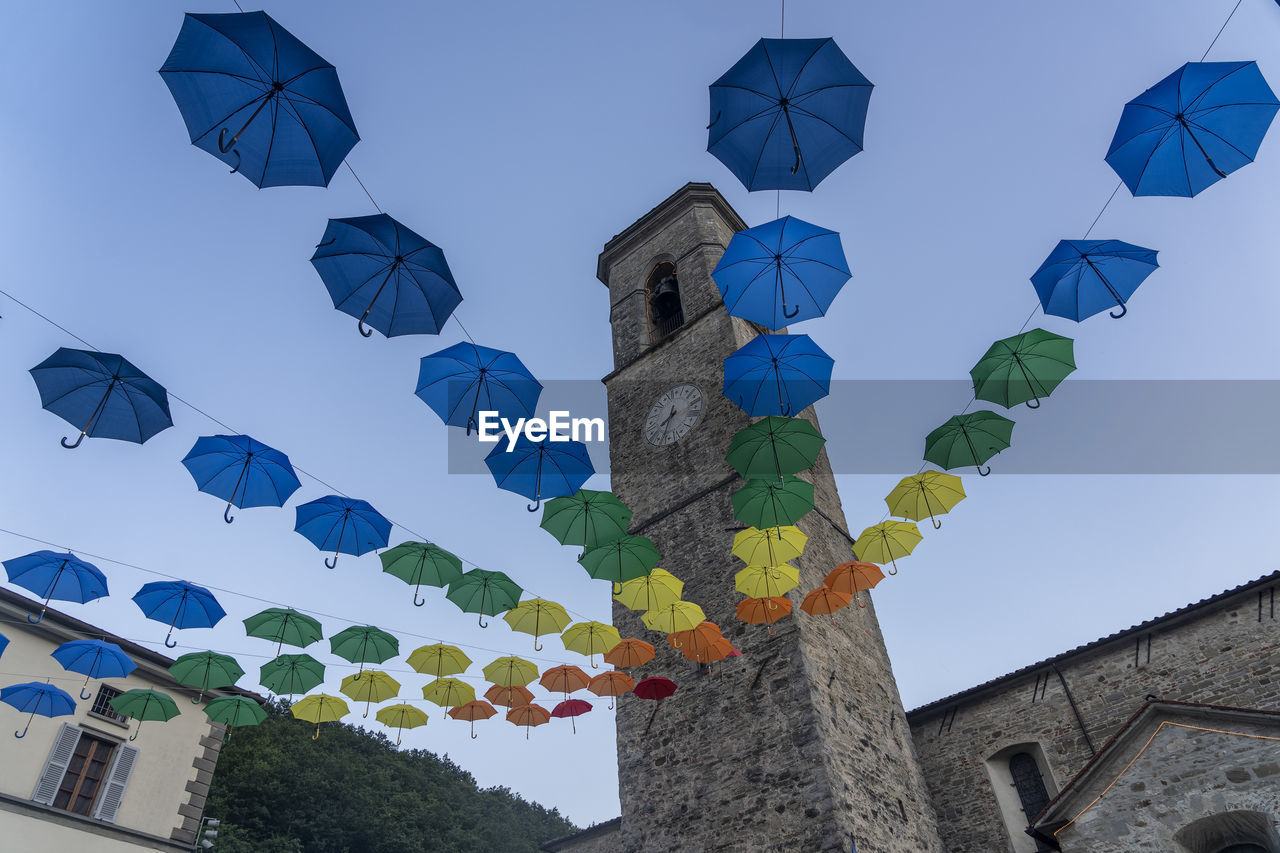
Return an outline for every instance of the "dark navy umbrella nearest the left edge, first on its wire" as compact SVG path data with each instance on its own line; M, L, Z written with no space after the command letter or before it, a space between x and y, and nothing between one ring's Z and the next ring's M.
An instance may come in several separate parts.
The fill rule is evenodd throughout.
M173 426L169 394L123 356L59 347L29 373L40 405L81 430L63 447L79 447L84 435L141 444Z

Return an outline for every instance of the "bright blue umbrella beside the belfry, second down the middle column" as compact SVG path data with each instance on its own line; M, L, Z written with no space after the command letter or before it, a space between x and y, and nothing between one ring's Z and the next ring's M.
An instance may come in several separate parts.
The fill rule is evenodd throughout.
M733 234L712 278L731 315L781 329L826 314L849 263L840 234L783 216Z

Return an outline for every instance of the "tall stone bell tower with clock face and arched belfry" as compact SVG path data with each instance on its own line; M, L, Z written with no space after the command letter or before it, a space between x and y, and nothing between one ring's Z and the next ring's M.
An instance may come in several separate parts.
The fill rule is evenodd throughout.
M631 532L653 539L659 565L685 581L685 598L742 651L707 671L614 602L623 637L655 640L643 674L680 685L659 706L618 706L621 849L941 852L874 608L846 607L833 624L799 607L851 558L826 452L801 474L817 510L799 524L809 543L792 562L795 615L772 638L736 619L742 564L730 547L742 525L730 496L744 480L724 453L750 419L721 393L722 373L760 329L728 316L710 273L742 228L714 187L689 183L611 240L596 272L613 327L613 492L635 511ZM814 419L812 409L801 415Z

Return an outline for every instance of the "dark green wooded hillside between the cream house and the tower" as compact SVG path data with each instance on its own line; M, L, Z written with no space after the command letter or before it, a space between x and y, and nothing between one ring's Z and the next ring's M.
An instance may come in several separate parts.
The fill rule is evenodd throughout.
M206 816L218 853L534 853L576 827L507 788L479 789L467 771L380 733L293 719L268 707L259 726L223 745Z

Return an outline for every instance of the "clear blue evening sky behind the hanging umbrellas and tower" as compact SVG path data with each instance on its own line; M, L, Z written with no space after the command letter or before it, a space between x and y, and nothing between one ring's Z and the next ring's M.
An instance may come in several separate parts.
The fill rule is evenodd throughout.
M854 270L828 316L797 330L836 357L838 378L964 378L1033 307L1028 275L1059 238L1083 234L1115 186L1102 158L1124 102L1198 60L1233 5L792 0L787 35L833 36L876 83L867 151L812 196L782 197L783 213L842 233ZM756 38L778 35L778 10L740 1L268 8L337 65L364 137L352 164L388 213L444 248L476 339L516 351L540 378L585 380L612 368L594 278L611 236L686 181L716 183L750 224L773 218L774 195L745 192L705 152L704 127L707 85ZM332 309L307 259L326 218L374 213L351 175L339 172L328 190L259 191L188 145L156 73L180 22L173 4L6 10L3 287L393 520L607 620L607 588L538 529L522 498L447 474L444 428L412 391L417 357L460 339L457 327L438 339L365 341ZM1256 59L1280 83L1276 44L1280 9L1244 0L1210 59ZM1078 338L1079 378L1276 378L1274 137L1256 164L1194 200L1121 191L1094 236L1158 248L1162 266L1124 320L1046 324ZM412 607L371 555L326 570L292 532L293 503L224 525L220 503L179 465L198 435L223 430L182 405L177 425L146 446L61 450L67 425L40 409L26 370L77 345L3 298L0 313L0 526L332 613L326 633L367 621L401 633L404 652L426 642L410 633L492 649L467 649L476 670L498 653L532 654L527 637L497 620L481 631L439 597ZM924 414L904 419L902 446L886 452L923 446L966 401L961 391L932 414L914 406ZM1052 439L1055 402L1015 415L1039 446ZM882 424L895 412L864 416ZM823 426L832 444L859 441L856 420ZM841 478L851 528L881 519L896 479ZM1275 478L966 476L966 485L970 498L877 594L908 707L1275 567ZM294 503L325 493L303 478ZM35 547L0 534L5 558ZM157 643L164 626L129 601L154 578L100 565L113 597L69 612ZM269 649L246 639L239 620L262 605L221 599L225 622L180 642L239 654L251 670L242 684L253 688ZM539 657L581 662L554 646ZM335 690L347 670L332 672ZM422 679L403 681L416 693ZM465 724L433 717L406 743L449 753L480 784L508 785L580 824L617 813L603 707L577 735L545 726L527 743L500 720L471 740Z

